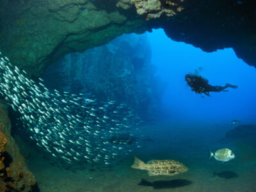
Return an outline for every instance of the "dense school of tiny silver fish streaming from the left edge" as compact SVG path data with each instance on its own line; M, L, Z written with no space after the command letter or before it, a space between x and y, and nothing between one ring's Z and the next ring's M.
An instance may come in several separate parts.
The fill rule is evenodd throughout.
M128 154L129 141L111 141L113 136L140 132L141 120L125 104L86 98L83 93L49 91L44 81L33 81L26 71L12 65L0 52L0 95L28 130L31 140L52 156L73 161L111 164ZM129 138L127 139L129 140Z

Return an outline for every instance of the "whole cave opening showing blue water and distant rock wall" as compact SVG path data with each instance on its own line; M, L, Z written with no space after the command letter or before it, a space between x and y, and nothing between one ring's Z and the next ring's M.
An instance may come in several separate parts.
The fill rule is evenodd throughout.
M236 84L228 92L191 92L184 76L198 72L209 84ZM102 76L102 74L104 74ZM83 53L67 54L42 74L54 90L85 93L136 108L145 122L255 123L256 70L233 49L204 52L168 38L163 29L122 35ZM52 81L55 79L56 81Z

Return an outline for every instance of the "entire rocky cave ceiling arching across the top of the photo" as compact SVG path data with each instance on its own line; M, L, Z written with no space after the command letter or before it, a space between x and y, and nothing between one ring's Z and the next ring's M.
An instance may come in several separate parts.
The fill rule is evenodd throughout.
M123 33L163 28L204 51L233 47L256 66L255 1L0 1L0 50L38 76L64 54L106 44ZM171 60L171 58L170 58Z

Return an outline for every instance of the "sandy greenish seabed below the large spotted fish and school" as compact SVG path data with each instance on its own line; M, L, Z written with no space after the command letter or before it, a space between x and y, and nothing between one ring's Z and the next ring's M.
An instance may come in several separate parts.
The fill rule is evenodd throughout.
M236 150L230 143L220 142L224 134L222 129L217 127L212 131L200 125L195 129L189 127L189 131L186 126L177 125L143 129L150 141L143 141L134 154L110 166L86 164L83 169L68 170L33 152L29 169L35 174L42 192L256 191L256 157L245 156L243 150L246 148ZM236 159L224 164L207 158L207 148L216 150L224 147L233 147ZM147 171L130 168L133 156L146 162L150 159L175 159L188 166L189 170L172 177L150 177Z

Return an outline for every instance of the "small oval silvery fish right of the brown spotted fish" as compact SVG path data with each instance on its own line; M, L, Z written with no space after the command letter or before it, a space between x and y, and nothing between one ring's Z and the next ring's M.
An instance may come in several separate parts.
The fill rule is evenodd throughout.
M228 148L221 148L219 150L216 150L216 152L214 153L212 153L211 150L209 150L209 159L211 157L214 157L216 160L226 163L227 161L234 159L235 154L232 152L232 150Z

